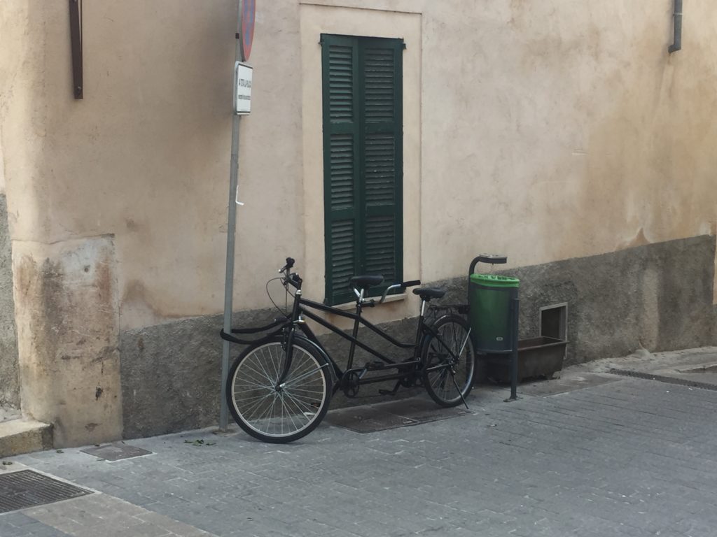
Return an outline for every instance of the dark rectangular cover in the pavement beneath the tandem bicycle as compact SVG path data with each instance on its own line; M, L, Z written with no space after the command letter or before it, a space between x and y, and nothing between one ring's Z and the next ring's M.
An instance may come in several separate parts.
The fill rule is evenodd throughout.
M429 400L404 399L332 410L326 415L326 421L354 432L376 432L447 420L450 417L469 413L465 407L441 408Z

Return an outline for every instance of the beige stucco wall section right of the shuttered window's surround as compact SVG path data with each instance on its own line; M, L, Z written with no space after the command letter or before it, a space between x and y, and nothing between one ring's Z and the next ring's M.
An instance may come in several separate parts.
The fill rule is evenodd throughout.
M710 2L685 5L672 56L671 1L437 4L423 98L448 98L423 109L424 277L476 251L527 265L715 233Z

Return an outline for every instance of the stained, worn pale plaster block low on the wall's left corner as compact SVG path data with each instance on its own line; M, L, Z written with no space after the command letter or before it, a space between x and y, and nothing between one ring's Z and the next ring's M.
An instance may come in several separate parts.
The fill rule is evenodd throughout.
M14 263L19 341L26 346L20 367L32 395L24 411L54 425L56 445L90 442L88 433L98 439L118 435L116 397L105 395L119 384L111 248L104 239L76 248L72 242L32 246L33 253ZM90 394L103 403L92 405Z

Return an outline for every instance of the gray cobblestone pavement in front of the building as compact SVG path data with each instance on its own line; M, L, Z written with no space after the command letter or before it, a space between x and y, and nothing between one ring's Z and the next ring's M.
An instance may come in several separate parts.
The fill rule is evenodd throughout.
M201 430L128 441L153 454L113 463L18 456L0 473L98 493L0 515L0 536L717 535L717 392L614 377L506 395L477 390L471 414L414 427L322 425L290 445Z

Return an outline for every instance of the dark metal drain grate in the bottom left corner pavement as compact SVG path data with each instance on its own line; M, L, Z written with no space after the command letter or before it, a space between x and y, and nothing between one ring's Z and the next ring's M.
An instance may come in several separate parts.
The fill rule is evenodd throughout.
M90 490L32 470L0 475L0 513L92 494Z

